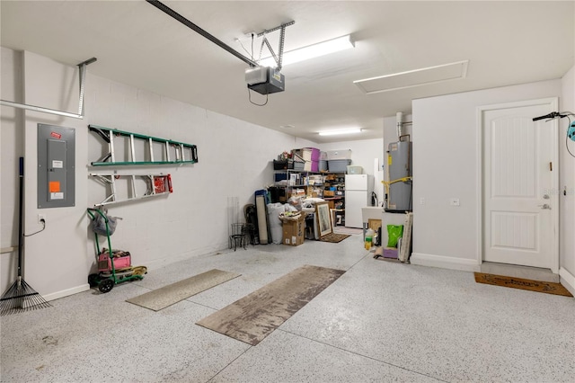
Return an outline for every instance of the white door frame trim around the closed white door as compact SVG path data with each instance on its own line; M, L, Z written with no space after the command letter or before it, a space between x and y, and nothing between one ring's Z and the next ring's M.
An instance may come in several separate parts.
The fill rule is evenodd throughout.
M550 111L558 111L559 109L559 98L558 97L547 97L535 100L526 100L519 102L502 102L495 103L491 105L482 105L477 107L477 187L478 187L478 199L477 199L477 228L479 234L477 237L477 264L481 266L483 263L483 149L486 143L483 142L483 112L493 111L498 109L508 109L517 108L523 106L541 105L549 104ZM534 116L535 117L535 116ZM553 121L546 122L549 129L552 129L552 142L554 143L552 147L552 161L553 161L553 172L551 172L552 177L552 187L549 191L551 197L550 202L552 203L553 209L551 210L552 222L553 222L553 244L551 245L552 250L552 263L551 271L554 274L559 273L559 123L555 119ZM547 128L547 127L545 127Z

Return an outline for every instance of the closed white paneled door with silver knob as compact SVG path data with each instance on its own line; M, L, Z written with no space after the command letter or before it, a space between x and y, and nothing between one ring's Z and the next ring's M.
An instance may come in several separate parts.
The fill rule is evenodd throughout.
M557 99L481 110L483 261L558 272Z

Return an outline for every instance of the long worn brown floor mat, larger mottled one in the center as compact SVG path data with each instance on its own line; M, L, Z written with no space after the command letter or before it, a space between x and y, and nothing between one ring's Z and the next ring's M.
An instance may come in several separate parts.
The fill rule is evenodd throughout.
M306 264L203 318L197 325L254 346L343 273Z

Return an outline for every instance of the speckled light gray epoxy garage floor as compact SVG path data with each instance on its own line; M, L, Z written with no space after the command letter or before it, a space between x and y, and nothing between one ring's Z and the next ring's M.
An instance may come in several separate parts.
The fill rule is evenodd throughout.
M257 346L195 322L303 264L347 271ZM125 302L220 269L242 276L158 312ZM340 244L250 246L173 263L108 294L0 318L5 382L560 382L575 299L374 260Z

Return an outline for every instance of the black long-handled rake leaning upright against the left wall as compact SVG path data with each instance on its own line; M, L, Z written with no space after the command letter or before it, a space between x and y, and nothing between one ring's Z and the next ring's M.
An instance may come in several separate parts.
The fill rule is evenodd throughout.
M20 157L20 211L18 222L18 277L0 298L0 316L51 307L42 296L22 278L22 217L23 217L24 157Z

